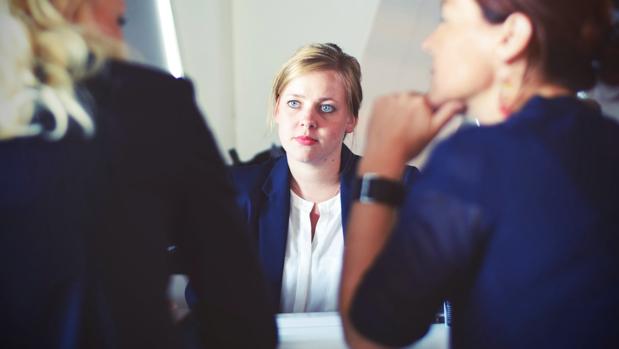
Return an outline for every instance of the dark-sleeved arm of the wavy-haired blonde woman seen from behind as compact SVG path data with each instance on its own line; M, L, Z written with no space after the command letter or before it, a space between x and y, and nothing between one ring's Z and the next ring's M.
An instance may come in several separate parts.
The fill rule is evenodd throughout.
M200 335L209 347L275 347L273 308L224 163L193 98L179 105L188 110L178 118L189 118L179 253L198 297Z

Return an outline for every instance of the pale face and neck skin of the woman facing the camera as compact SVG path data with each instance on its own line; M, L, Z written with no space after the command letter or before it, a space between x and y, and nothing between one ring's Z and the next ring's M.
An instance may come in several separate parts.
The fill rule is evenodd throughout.
M346 103L346 90L335 71L308 72L290 81L275 105L275 122L286 150L291 189L314 203L312 237L320 218L317 204L340 190L344 136L357 118Z

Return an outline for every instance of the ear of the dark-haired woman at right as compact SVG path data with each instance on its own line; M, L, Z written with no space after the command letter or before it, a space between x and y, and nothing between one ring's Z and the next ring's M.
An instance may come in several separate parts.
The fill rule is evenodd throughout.
M524 57L533 37L533 23L521 12L514 12L501 24L498 57L504 63Z

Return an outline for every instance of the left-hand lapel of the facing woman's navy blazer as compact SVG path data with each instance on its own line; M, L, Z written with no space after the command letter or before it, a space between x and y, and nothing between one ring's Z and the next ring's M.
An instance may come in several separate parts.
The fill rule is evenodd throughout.
M288 236L290 213L290 172L285 156L280 157L264 181L264 209L259 217L258 248L260 259L269 282L273 301L279 309L282 274Z

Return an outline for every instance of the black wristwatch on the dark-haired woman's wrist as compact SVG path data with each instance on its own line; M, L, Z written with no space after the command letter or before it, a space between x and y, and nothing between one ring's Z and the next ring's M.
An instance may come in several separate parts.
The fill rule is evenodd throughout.
M353 189L353 199L361 203L381 203L393 207L402 205L404 194L402 182L380 177L376 173L357 177Z

